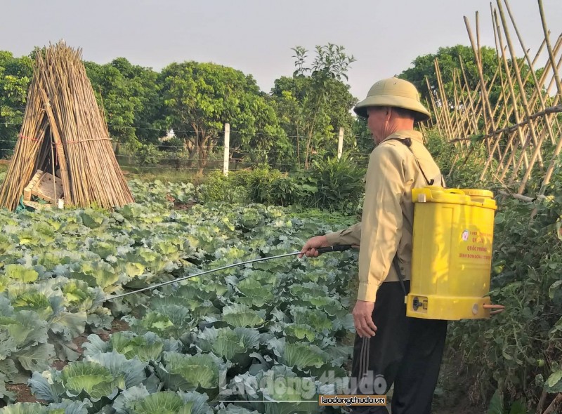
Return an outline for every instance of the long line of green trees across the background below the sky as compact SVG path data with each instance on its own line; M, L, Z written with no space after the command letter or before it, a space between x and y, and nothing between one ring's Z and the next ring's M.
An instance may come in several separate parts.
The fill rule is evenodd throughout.
M157 72L116 58L100 65L84 62L93 91L103 108L115 151L126 146L135 152L160 145L185 153L200 170L221 145L224 123L230 123L230 149L240 158L273 166L308 167L315 157L335 154L337 134L344 127L344 147L368 154L372 140L366 123L351 109L355 98L348 70L355 58L344 46L327 44L307 51L292 49L294 72L275 79L269 93L261 91L251 74L206 62L174 62ZM0 157L11 155L22 123L27 88L33 75L34 53L15 57L0 51ZM459 56L473 84L478 74L466 46L440 48L422 55L398 74L419 88L422 98L436 93L433 60L443 66L445 88L452 88L452 70ZM483 48L483 66L494 76L495 50ZM430 88L425 82L428 76ZM492 92L493 97L493 92ZM446 105L446 102L438 102ZM162 145L160 138L174 130L175 138Z

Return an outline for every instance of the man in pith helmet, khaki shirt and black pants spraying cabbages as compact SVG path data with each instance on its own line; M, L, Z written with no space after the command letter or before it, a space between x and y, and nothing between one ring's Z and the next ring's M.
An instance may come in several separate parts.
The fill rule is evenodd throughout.
M415 86L397 78L378 81L354 110L367 117L377 145L367 168L361 222L309 239L300 257L314 257L320 247L360 245L352 394L386 394L394 384L393 414L430 414L447 321L408 318L404 301L412 262L411 191L445 186L421 133L414 131L414 122L430 114ZM387 410L356 407L353 413Z

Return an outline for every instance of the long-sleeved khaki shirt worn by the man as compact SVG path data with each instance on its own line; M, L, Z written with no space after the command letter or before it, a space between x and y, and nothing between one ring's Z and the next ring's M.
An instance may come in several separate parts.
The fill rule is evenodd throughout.
M391 138L410 138L412 145L408 148ZM400 271L410 280L414 222L411 191L427 185L420 167L428 180L434 180L433 185L444 187L439 167L424 146L421 133L398 131L389 135L369 159L361 222L326 234L332 245L360 245L358 300L374 302L381 283L400 280L392 265L397 251Z

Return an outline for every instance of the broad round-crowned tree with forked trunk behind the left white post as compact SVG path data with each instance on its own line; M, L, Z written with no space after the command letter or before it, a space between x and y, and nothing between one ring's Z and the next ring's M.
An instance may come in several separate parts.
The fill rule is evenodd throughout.
M218 144L225 123L231 147L256 153L287 141L273 107L251 75L213 63L183 62L165 67L162 84L166 126L185 142L200 172ZM285 146L287 147L287 146Z

